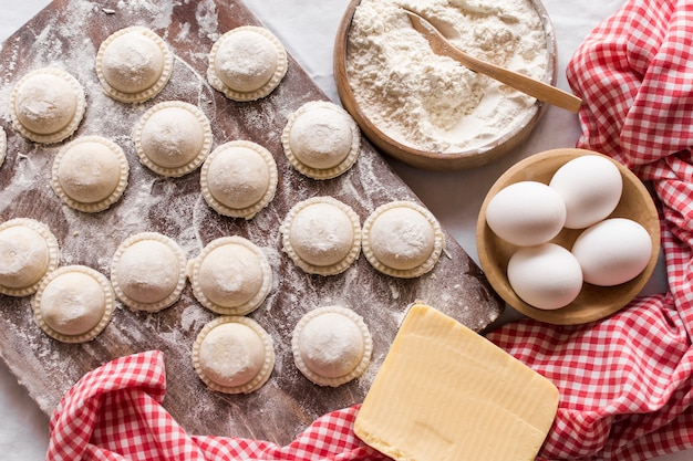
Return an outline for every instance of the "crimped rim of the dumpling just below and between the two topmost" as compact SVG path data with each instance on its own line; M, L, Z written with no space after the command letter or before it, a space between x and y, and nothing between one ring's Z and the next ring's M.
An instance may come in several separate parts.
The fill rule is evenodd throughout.
M154 161L149 159L149 157L147 157L144 149L142 148L142 132L147 121L149 119L149 117L152 117L152 115L154 115L158 111L165 111L172 107L188 111L198 119L199 125L203 128L204 142L203 142L203 147L200 148L199 153L193 160L188 161L186 165L183 165L180 167L166 168L166 167L162 167L161 165L155 164ZM197 169L209 155L209 151L211 150L211 143L213 143L211 124L209 122L209 118L207 118L207 115L205 115L205 113L199 107L190 103L185 103L183 101L165 101L163 103L158 103L149 107L149 109L147 109L147 112L145 112L144 115L139 117L137 123L135 123L135 126L133 128L133 142L135 144L135 151L137 153L137 157L139 157L139 161L142 163L142 165L144 165L145 167L147 167L148 169L151 169L152 171L158 175L166 176L169 178L177 178Z

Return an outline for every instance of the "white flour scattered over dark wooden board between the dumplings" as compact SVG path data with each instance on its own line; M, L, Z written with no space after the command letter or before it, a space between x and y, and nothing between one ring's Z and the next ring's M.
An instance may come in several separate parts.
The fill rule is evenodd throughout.
M361 400L395 334L403 315L401 304L412 298L423 284L433 283L438 290L448 290L448 286L433 279L401 283L373 277L369 263L363 259L338 277L307 276L302 271L291 270L286 264L280 250L279 223L289 205L313 195L344 198L354 205L360 216L365 217L382 202L414 199L413 192L402 181L390 179L389 167L380 156L373 150L364 150L351 169L349 179L330 182L308 181L302 175L292 171L286 161L280 163L282 182L276 206L268 207L251 222L219 217L199 193L198 176L192 174L175 179L162 178L139 164L132 140L132 127L136 121L158 101L186 101L207 114L215 127L217 143L259 133L261 138L256 140L262 145L273 145L276 157L282 158L282 122L290 113L307 101L318 98L320 94L312 86L302 85L304 77L297 72L292 74L293 81L289 85L278 86L272 96L261 104L231 105L220 101L203 75L209 49L200 46L198 39L209 41L224 32L219 30L217 3L211 0L173 0L165 2L161 11L154 8L154 0L121 0L110 13L102 11L101 4L95 1L69 2L71 15L68 19L55 15L45 28L32 31L40 40L28 44L14 39L3 45L8 46L3 54L10 59L9 62L0 63L0 118L8 130L9 151L0 168L0 182L8 185L0 188L0 212L11 216L12 210L22 210L60 230L56 238L61 243L61 263L90 265L105 275L110 274L112 255L117 245L142 231L163 231L182 247L188 258L195 258L204 243L224 234L242 233L248 240L258 243L281 276L273 279L267 302L257 311L257 315L254 314L275 338L277 349L273 376L257 392L225 400L200 388L199 379L190 366L189 345L204 324L214 317L214 313L196 302L192 290L185 290L180 302L156 315L118 308L110 329L105 332L118 338L122 347L115 350L117 354L124 355L144 347L163 347L167 350L167 368L175 379L168 383L170 387L166 399L169 408L183 407L182 412L174 413L174 417L189 425L190 430L201 432L203 428L214 426L219 432L238 437L271 437L283 444L293 440L289 434L291 428L299 430L301 425L311 422L328 410ZM231 4L236 6L234 2ZM174 8L182 7L195 9L196 23L190 21L179 29L170 30L156 25L176 23L172 12ZM94 70L99 42L84 36L84 24L110 21L121 14L133 18L131 22L134 25L152 27L172 45L175 53L170 82L156 99L145 104L125 105L103 93ZM105 35L105 29L103 32ZM23 72L28 65L22 56L31 56L32 67L53 65L73 74L87 94L85 121L80 134L110 137L128 156L131 179L125 193L104 212L92 216L62 207L49 184L59 146L31 144L13 133L8 103L13 84L21 77L18 71ZM258 126L265 127L265 132L249 129ZM29 207L34 202L43 206ZM442 261L443 264L448 262ZM452 273L449 265L442 270ZM28 301L21 300L22 307L27 307ZM371 366L364 375L354 383L329 389L329 392L299 376L288 340L302 313L324 304L353 307L366 321L374 343ZM156 335L152 335L153 332ZM25 377L32 370L40 370L46 376L55 376L63 385L74 383L80 377L80 367L63 366L65 360L73 357L66 357L61 345L46 338L37 328L4 331L3 337L6 344L11 340L22 350L37 352L37 356L28 354L30 362L21 364L20 376ZM80 357L104 359L102 344L97 339L82 345ZM49 397L37 395L35 398L42 408L49 409L56 404L54 394ZM196 401L195 406L187 405L192 400ZM254 418L245 418L246 415L252 415ZM296 417L291 418L292 415Z

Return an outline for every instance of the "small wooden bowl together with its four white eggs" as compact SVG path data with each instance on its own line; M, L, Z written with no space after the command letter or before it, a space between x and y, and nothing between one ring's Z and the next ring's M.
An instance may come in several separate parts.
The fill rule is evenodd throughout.
M528 317L593 322L624 307L652 275L660 222L625 166L585 149L535 154L490 188L476 242L490 285Z

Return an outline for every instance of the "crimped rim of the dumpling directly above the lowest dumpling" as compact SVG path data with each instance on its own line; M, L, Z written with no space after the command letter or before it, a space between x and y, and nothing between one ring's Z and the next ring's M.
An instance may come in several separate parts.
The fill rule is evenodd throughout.
M260 290L258 290L258 293L248 302L231 307L218 305L209 300L199 283L199 271L203 262L205 261L205 258L207 258L207 255L217 248L227 244L241 245L252 251L258 256L258 260L260 261L260 268L262 270L262 286L260 287ZM260 306L260 304L265 302L265 298L272 287L273 280L272 268L265 253L262 253L258 245L240 235L219 237L207 243L207 245L205 245L199 255L188 262L186 272L188 279L190 280L190 284L193 285L193 294L195 295L197 301L199 301L199 303L203 306L207 307L209 311L220 315L246 315L255 311Z

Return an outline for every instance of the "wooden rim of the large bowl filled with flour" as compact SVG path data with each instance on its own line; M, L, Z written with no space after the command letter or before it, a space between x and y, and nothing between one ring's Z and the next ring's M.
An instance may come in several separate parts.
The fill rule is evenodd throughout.
M363 113L349 84L349 76L346 74L348 36L351 29L351 21L360 3L361 0L350 1L337 31L333 51L334 82L339 98L346 112L351 114L369 140L391 157L416 168L441 171L461 170L486 165L523 143L547 111L548 104L537 101L532 106L536 109L529 111L515 129L504 134L493 143L459 153L421 150L392 139ZM541 20L547 41L549 60L544 81L556 85L558 51L554 25L540 0L530 0L530 3Z

